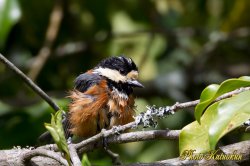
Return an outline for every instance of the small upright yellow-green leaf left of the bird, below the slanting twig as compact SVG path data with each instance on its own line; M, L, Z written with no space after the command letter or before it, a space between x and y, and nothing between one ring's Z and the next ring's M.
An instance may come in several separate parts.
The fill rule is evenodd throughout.
M51 123L45 123L44 125L52 135L53 140L57 144L59 150L65 153L66 159L70 165L70 154L62 125L62 113L63 111L59 110L55 113L55 115L52 114Z

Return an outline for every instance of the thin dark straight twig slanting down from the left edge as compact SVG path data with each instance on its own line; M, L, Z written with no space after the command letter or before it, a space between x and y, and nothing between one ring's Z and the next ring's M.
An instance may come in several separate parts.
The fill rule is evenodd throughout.
M18 76L20 76L22 80L31 89L33 89L42 99L44 99L55 111L58 111L60 109L59 106L55 102L53 102L53 100L41 88L39 88L29 77L27 77L21 70L19 70L8 59L6 59L1 53L0 53L0 61L2 61L8 68L10 68Z

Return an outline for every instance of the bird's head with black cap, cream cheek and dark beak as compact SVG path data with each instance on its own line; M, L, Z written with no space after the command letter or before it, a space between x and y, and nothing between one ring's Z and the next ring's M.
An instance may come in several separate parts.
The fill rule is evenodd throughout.
M143 87L138 81L137 66L131 58L120 56L104 59L94 68L94 72L116 83Z

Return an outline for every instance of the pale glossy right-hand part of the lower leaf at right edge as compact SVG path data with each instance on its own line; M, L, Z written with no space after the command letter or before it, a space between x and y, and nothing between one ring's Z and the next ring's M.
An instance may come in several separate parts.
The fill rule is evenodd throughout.
M220 102L215 112L211 111L213 123L208 132L210 147L214 149L221 137L250 118L250 91Z

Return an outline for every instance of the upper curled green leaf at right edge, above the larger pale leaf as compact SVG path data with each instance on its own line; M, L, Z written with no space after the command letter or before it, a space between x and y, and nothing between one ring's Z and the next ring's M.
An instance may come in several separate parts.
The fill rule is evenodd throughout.
M212 84L205 88L200 97L200 103L195 107L195 119L200 123L204 110L219 96L235 89L250 86L250 77L228 79L220 85Z

